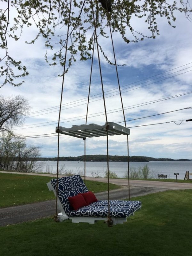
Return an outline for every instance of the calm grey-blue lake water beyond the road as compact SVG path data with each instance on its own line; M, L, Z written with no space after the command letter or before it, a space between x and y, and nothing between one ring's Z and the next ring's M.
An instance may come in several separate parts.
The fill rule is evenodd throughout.
M55 161L42 161L41 172L57 172L57 162ZM183 180L185 177L186 171L192 173L192 161L188 162L179 162L179 161L151 161L151 162L130 162L130 170L135 167L143 168L145 165L148 165L150 172L153 174L153 178L157 178L157 174L166 174L167 178L176 179L174 172L178 172L178 179ZM73 172L73 174L82 174L84 175L84 162L59 162L59 167L63 166L64 171ZM107 170L107 162L86 162L86 176L90 177L104 177ZM119 178L124 178L125 173L128 170L127 162L109 162L110 172L116 172ZM192 178L192 175L191 175Z

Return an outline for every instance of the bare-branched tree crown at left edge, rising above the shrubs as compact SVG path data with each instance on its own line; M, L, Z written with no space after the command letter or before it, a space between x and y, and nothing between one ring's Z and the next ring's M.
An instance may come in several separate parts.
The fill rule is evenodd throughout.
M13 134L12 126L22 124L28 110L28 101L21 95L8 98L0 95L0 132Z

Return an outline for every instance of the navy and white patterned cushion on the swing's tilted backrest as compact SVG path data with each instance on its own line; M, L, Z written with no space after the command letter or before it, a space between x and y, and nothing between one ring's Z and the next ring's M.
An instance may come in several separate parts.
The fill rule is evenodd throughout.
M52 179L51 184L56 191L57 179ZM73 211L69 204L68 197L76 196L79 193L85 193L89 190L84 184L84 181L79 175L67 176L58 179L58 197L63 206L64 211L68 215Z

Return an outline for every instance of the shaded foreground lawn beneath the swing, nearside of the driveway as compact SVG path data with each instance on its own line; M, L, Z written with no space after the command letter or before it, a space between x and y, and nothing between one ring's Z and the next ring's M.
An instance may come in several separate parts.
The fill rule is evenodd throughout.
M42 219L0 227L6 256L191 256L192 190L142 196L142 210L109 228Z

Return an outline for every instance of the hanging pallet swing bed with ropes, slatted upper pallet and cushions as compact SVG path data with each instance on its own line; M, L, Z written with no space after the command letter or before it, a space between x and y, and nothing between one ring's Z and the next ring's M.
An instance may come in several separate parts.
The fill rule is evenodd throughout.
M93 5L92 5L93 6ZM124 223L127 218L131 215L134 215L134 212L141 209L140 201L130 201L130 184L129 184L129 140L128 135L130 134L130 130L126 127L123 101L121 97L121 90L117 72L115 51L113 46L112 32L110 28L110 20L108 19L114 60L116 66L116 74L117 81L119 86L119 94L121 98L122 111L124 115L124 124L125 126L121 126L114 122L108 122L107 119L107 110L105 104L105 95L104 95L104 87L102 81L102 72L100 65L100 56L99 56L99 47L97 41L97 17L98 17L98 6L96 7L96 19L94 17L94 11L92 7L93 13L93 21L94 21L94 40L93 45L96 44L97 53L98 53L98 62L100 69L100 78L101 78L101 87L103 94L103 103L105 109L105 119L106 123L104 125L98 124L87 124L87 116L88 116L88 105L89 105L89 97L90 97L90 87L91 87L91 79L92 79L92 66L93 66L93 56L94 56L94 47L92 52L92 65L91 65L91 73L90 73L90 83L89 83L89 93L88 93L88 102L87 102L87 112L86 112L86 121L83 125L73 125L71 128L66 128L60 126L60 113L61 113L61 103L62 103L62 94L64 87L64 74L65 74L65 65L63 70L63 81L62 81L62 90L61 90L61 99L60 99L60 112L59 112L59 121L58 126L56 127L56 132L58 133L58 160L57 160L57 178L52 179L47 183L49 190L52 190L56 196L56 213L54 216L55 221L63 221L70 219L73 223L79 222L87 222L94 224L95 221L104 220L111 227L113 224ZM71 11L71 3L70 3L70 11ZM106 14L108 18L108 6L106 6ZM69 20L71 13L69 12ZM66 51L65 51L65 60L67 56L67 46L68 46L68 35L69 35L69 24L68 24L68 32L67 32L67 40L66 40ZM80 177L80 175L66 176L59 178L59 140L60 134L65 134L68 136L80 138L84 140L84 181ZM109 154L108 154L108 136L113 135L126 135L127 136L127 162L128 162L128 188L129 188L129 201L124 200L110 200L109 198ZM86 181L86 138L92 137L100 137L106 136L107 142L107 173L108 173L108 200L100 200L98 201L96 196L87 189L85 185ZM58 209L60 213L57 213Z

